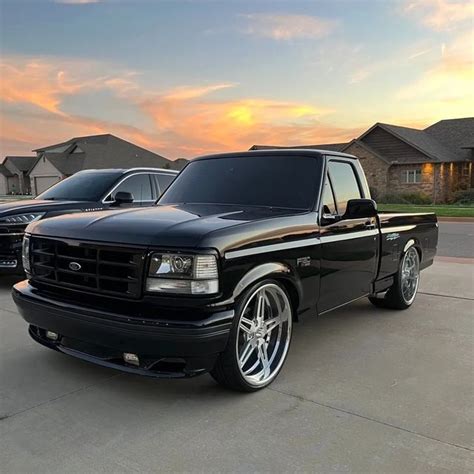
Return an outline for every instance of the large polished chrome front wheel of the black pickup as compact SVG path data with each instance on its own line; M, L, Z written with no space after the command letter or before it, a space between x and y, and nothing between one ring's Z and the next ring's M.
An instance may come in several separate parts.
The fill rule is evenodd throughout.
M258 387L278 374L291 340L292 311L286 293L268 283L250 295L241 312L236 338L239 371Z

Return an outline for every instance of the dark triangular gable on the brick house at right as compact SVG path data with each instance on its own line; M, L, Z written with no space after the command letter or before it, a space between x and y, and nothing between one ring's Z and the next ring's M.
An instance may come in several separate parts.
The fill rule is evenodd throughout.
M373 148L391 163L426 163L433 161L429 156L411 147L408 143L381 127L375 127L363 136L360 141Z

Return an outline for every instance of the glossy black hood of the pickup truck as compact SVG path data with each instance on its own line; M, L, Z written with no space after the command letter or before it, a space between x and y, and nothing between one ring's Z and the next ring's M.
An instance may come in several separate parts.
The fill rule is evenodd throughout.
M280 240L288 232L314 231L307 212L288 209L180 204L145 209L67 214L30 224L35 235L147 247L217 248L226 251L262 238ZM282 222L283 221L294 221ZM309 226L309 222L313 225ZM308 224L308 225L307 225ZM279 229L285 235L279 235Z

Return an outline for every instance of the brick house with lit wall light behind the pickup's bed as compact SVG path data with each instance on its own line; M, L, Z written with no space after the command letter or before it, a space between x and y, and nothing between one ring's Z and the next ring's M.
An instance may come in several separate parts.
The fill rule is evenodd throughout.
M254 145L250 149L262 148L276 147ZM376 198L420 193L438 203L474 187L474 117L441 120L423 130L376 123L347 143L291 148L358 156Z

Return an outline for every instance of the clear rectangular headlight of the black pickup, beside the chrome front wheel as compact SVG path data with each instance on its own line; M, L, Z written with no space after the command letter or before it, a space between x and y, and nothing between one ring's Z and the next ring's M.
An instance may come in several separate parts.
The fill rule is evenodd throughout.
M154 253L146 290L158 293L210 295L219 291L214 255Z

